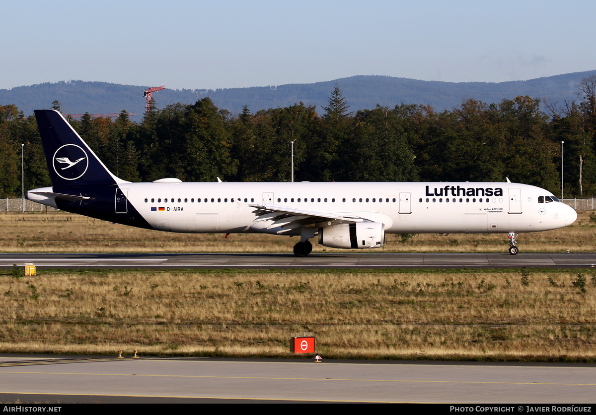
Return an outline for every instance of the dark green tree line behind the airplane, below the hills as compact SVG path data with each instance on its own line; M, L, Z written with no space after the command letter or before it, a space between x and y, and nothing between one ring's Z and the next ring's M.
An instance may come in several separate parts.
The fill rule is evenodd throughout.
M429 105L377 105L349 112L336 87L321 114L315 106L231 115L203 98L154 105L142 122L119 117L68 121L105 165L129 181L511 181L565 197L596 193L596 77L584 78L575 100L529 96L487 104L466 99L451 110ZM54 101L54 109L60 103ZM561 144L561 142L564 142ZM0 106L0 194L50 186L35 116ZM562 158L561 158L562 156Z

